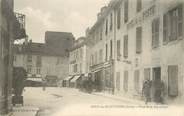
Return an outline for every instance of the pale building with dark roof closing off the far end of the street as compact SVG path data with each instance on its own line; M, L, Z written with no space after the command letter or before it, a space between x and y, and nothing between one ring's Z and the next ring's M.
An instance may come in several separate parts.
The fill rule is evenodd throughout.
M63 38L57 36L58 32L55 36L46 35L46 43L28 42L15 45L14 66L24 67L28 72L28 77L35 81L35 78L38 81L38 78L41 78L48 86L56 86L58 80L68 76L67 52L72 47L74 39L73 35L68 33L59 33L59 36ZM63 44L65 41L68 46Z

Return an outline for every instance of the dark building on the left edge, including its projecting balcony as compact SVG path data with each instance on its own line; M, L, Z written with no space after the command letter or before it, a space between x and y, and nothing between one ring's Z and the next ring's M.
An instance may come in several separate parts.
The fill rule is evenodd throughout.
M0 115L12 109L12 46L24 37L25 15L14 13L13 0L0 0Z

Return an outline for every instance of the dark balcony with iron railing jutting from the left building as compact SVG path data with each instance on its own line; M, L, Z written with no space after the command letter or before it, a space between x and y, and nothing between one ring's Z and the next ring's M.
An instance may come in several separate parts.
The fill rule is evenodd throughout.
M13 35L15 40L27 37L25 31L25 15L14 13Z

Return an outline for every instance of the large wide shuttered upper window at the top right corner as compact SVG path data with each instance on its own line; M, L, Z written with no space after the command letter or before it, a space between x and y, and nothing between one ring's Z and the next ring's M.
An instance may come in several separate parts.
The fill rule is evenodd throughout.
M163 44L183 36L183 6L179 5L163 17Z

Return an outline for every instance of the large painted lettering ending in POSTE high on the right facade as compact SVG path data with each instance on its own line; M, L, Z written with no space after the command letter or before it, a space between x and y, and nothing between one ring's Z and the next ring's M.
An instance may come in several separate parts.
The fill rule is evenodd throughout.
M136 18L132 19L127 28L131 29L135 25L142 23L143 21L147 20L149 17L155 15L155 5L151 6L149 9L145 10L141 15L137 16Z

